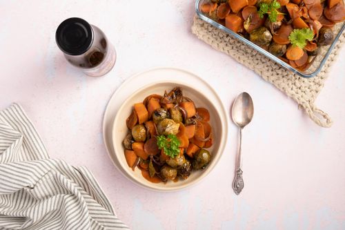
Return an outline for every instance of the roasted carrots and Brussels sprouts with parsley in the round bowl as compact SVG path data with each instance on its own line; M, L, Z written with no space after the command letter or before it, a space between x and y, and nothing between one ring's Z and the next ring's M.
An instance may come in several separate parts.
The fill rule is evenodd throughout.
M179 87L164 95L148 95L126 119L123 144L128 166L133 171L138 167L153 183L186 180L212 159L206 150L213 145L209 122L208 110L197 108Z

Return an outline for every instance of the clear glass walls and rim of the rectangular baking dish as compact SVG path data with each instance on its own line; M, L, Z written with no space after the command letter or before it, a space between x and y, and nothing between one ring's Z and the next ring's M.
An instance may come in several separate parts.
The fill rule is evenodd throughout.
M237 40L242 41L244 44L248 45L250 48L253 48L257 50L258 52L262 53L262 55L265 55L269 59L275 61L277 64L283 66L287 70L292 71L293 73L296 73L297 75L301 77L315 77L319 73L319 71L322 69L322 66L326 63L326 60L328 59L328 56L331 55L331 51L333 50L335 44L337 43L337 40L339 39L340 35L342 35L342 32L345 29L345 22L344 23L336 23L333 32L334 32L334 40L331 45L329 46L322 46L319 49L319 54L315 57L315 60L313 61L313 64L306 70L297 70L296 68L293 68L289 64L287 64L285 61L282 61L278 57L275 57L275 55L272 55L270 52L264 50L263 48L253 44L253 42L245 39L241 35L238 35L237 33L233 32L233 30L229 30L225 26L222 26L217 21L214 21L213 19L210 19L207 15L204 15L203 12L201 12L200 6L202 3L208 2L208 0L196 0L195 3L195 11L197 12L197 16L206 21L207 23L210 23L212 26L215 26L216 28L219 28L220 30L224 30L229 35L235 37Z

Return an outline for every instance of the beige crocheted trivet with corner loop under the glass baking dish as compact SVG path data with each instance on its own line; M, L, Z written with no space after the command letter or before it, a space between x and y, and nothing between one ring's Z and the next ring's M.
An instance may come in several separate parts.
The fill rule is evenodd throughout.
M246 44L242 44L242 42L237 41L226 32L211 26L198 17L194 18L192 32L216 50L225 52L239 63L254 70L255 73L262 76L266 81L274 84L275 87L286 93L288 97L293 98L299 106L304 108L306 114L316 124L322 127L331 127L333 123L331 117L324 113L324 111L319 110L314 102L320 90L324 87L328 68L345 42L345 33L339 37L339 41L337 41L321 72L315 77L303 78L294 75L256 50L253 50ZM322 52L326 52L326 50Z

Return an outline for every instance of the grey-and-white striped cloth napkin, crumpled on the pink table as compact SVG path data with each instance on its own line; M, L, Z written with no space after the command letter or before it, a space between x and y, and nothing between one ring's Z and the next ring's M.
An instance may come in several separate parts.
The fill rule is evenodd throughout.
M0 112L0 229L128 229L84 167L50 159L21 106Z

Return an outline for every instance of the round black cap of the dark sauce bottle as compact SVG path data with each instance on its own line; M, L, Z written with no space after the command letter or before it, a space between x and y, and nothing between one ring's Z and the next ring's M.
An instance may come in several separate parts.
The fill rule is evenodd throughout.
M71 17L57 28L55 39L62 52L68 55L81 55L92 45L93 31L87 21Z

